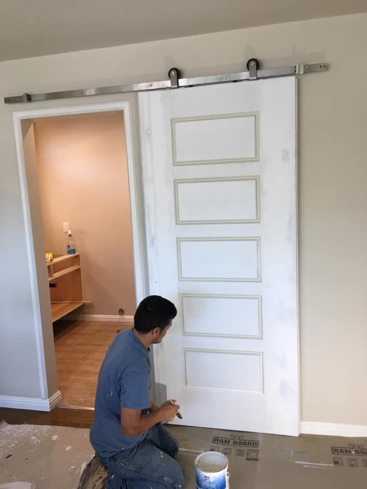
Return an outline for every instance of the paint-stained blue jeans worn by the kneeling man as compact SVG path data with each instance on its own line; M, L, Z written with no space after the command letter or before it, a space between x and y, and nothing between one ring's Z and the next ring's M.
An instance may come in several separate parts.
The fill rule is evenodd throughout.
M109 473L106 489L180 489L184 476L173 459L177 453L175 438L156 424L137 446L100 457Z

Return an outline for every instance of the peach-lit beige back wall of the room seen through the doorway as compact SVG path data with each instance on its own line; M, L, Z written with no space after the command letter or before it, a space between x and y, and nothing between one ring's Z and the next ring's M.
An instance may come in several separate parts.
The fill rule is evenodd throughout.
M136 309L123 113L36 121L35 142L45 249L65 253L69 222L82 253L81 313Z

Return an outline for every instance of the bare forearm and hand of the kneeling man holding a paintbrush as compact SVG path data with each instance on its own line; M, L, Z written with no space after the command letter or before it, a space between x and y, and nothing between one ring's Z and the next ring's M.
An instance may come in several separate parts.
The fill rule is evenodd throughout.
M154 406L157 409L153 409L151 413L143 415L141 414L141 409L121 408L121 431L123 436L126 438L134 437L161 421L172 421L179 410L179 406L171 404L170 401L162 404L160 408L156 404Z

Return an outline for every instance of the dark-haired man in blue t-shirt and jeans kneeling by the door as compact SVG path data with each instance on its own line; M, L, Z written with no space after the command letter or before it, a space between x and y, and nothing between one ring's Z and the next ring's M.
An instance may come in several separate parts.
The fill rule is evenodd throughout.
M97 386L90 441L109 472L108 489L179 489L183 472L174 460L178 443L163 428L179 406L149 398L151 344L161 343L176 316L158 295L146 297L134 328L121 331L104 358Z

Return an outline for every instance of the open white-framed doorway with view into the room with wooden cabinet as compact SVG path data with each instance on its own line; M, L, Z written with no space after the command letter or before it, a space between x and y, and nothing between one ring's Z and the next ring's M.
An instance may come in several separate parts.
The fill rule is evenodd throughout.
M53 396L54 405L93 409L106 350L119 330L132 326L144 295L129 104L54 112L14 115L34 267L35 327L42 333L41 382L50 398L45 362L55 351L61 396ZM49 263L45 253L53 254Z

